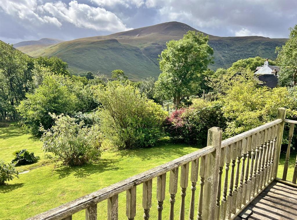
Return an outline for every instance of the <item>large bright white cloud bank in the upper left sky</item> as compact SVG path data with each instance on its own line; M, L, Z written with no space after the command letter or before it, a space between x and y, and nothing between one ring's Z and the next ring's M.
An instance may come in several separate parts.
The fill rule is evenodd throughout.
M45 4L38 4L39 2L42 3L37 0L0 0L0 7L5 13L32 23L46 23L61 27L63 23L68 22L79 28L97 31L129 30L114 13L102 7L91 7L77 1L70 1L68 5L62 1Z

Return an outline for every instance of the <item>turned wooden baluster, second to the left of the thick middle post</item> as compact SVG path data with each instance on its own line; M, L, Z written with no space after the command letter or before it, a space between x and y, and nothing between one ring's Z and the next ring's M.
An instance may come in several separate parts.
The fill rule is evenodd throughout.
M195 212L195 190L196 184L198 181L198 172L199 172L199 158L192 161L191 164L191 182L192 182L192 194L191 194L191 202L190 202L190 210L189 210L189 220L194 220L194 212Z

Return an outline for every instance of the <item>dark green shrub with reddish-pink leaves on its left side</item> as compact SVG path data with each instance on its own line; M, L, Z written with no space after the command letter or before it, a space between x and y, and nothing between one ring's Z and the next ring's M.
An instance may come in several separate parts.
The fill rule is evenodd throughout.
M177 109L166 118L165 130L170 137L189 144L205 145L211 127L226 126L222 105L219 102L200 100L188 108Z

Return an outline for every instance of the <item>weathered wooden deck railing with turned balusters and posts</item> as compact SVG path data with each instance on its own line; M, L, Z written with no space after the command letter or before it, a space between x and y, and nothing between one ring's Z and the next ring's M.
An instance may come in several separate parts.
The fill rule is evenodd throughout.
M115 220L118 219L118 195L126 191L127 219L141 219L143 216L143 219L148 220L153 203L152 183L156 179L157 189L154 190L157 190L157 201L154 207L157 207L159 220L162 219L165 199L170 201L170 207L166 207L169 209L169 219L177 219L177 216L174 216L174 205L178 183L181 188L181 197L178 197L181 200L180 220L234 219L276 179L284 124L297 123L285 120L285 111L284 108L280 108L276 120L224 141L222 130L212 127L208 130L207 147L30 219L72 219L74 213L84 209L86 219L97 219L97 203L107 199L107 219ZM297 172L296 166L295 169L294 173ZM165 190L167 175L169 192ZM200 187L199 193L196 193L198 179ZM189 181L189 214L185 216L185 198ZM136 188L139 185L142 185L142 213L136 213ZM198 199L197 207L195 199Z

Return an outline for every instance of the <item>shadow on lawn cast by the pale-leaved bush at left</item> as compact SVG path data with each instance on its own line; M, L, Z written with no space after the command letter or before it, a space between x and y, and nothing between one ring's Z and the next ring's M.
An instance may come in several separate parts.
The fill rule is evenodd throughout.
M77 178L86 178L94 173L102 173L109 170L119 170L118 166L115 166L115 163L118 163L119 160L114 159L100 159L98 163L86 164L84 166L76 167L65 167L59 166L53 170L53 174L58 174L59 179L67 177L73 174Z

